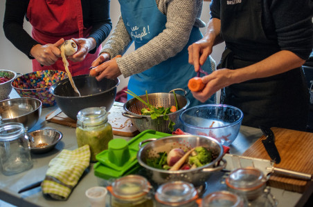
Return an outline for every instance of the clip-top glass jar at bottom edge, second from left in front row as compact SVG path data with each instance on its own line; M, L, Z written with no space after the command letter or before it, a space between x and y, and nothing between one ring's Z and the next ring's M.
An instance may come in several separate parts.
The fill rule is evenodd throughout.
M170 181L159 186L154 195L157 206L181 206L194 207L197 206L195 199L198 197L197 190L185 181Z

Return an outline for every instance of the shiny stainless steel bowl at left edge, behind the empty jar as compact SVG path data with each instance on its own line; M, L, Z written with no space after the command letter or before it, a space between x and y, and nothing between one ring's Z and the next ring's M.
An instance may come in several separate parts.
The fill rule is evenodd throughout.
M42 101L25 97L0 101L0 116L3 123L18 122L28 129L35 126L42 113Z

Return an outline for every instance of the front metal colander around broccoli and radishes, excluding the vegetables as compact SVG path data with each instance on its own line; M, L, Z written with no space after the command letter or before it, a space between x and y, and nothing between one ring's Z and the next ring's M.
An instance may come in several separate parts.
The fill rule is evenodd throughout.
M220 171L226 166L226 161L222 160L224 150L222 145L211 137L195 135L173 135L160 139L147 139L145 144L137 153L138 163L147 171L147 177L156 184L164 184L168 181L187 181L194 186L202 186L212 172ZM204 146L211 150L213 161L202 167L190 170L168 171L153 168L145 164L147 158L159 156L159 152L170 152L172 148L190 150L196 146ZM219 165L222 160L222 166Z

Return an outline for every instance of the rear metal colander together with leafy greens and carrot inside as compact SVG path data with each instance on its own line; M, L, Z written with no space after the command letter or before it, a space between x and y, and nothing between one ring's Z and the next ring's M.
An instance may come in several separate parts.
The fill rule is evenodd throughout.
M175 91L181 90L184 95ZM186 110L190 101L185 97L186 90L177 88L170 92L156 92L137 96L127 91L134 98L124 104L123 116L131 119L140 131L156 130L170 133L179 128L179 115ZM174 109L174 110L173 110Z

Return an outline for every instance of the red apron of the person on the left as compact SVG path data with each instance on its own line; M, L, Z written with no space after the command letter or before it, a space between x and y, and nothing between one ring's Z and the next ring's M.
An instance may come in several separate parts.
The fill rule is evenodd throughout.
M82 4L80 0L30 0L27 17L33 26L32 37L43 45L55 43L64 38L88 37L91 28L84 28L82 20ZM94 54L88 53L84 61L69 61L69 71L72 76L89 73L91 63L98 57L101 46ZM62 59L58 59L52 66L40 66L33 59L33 71L37 70L65 70Z

